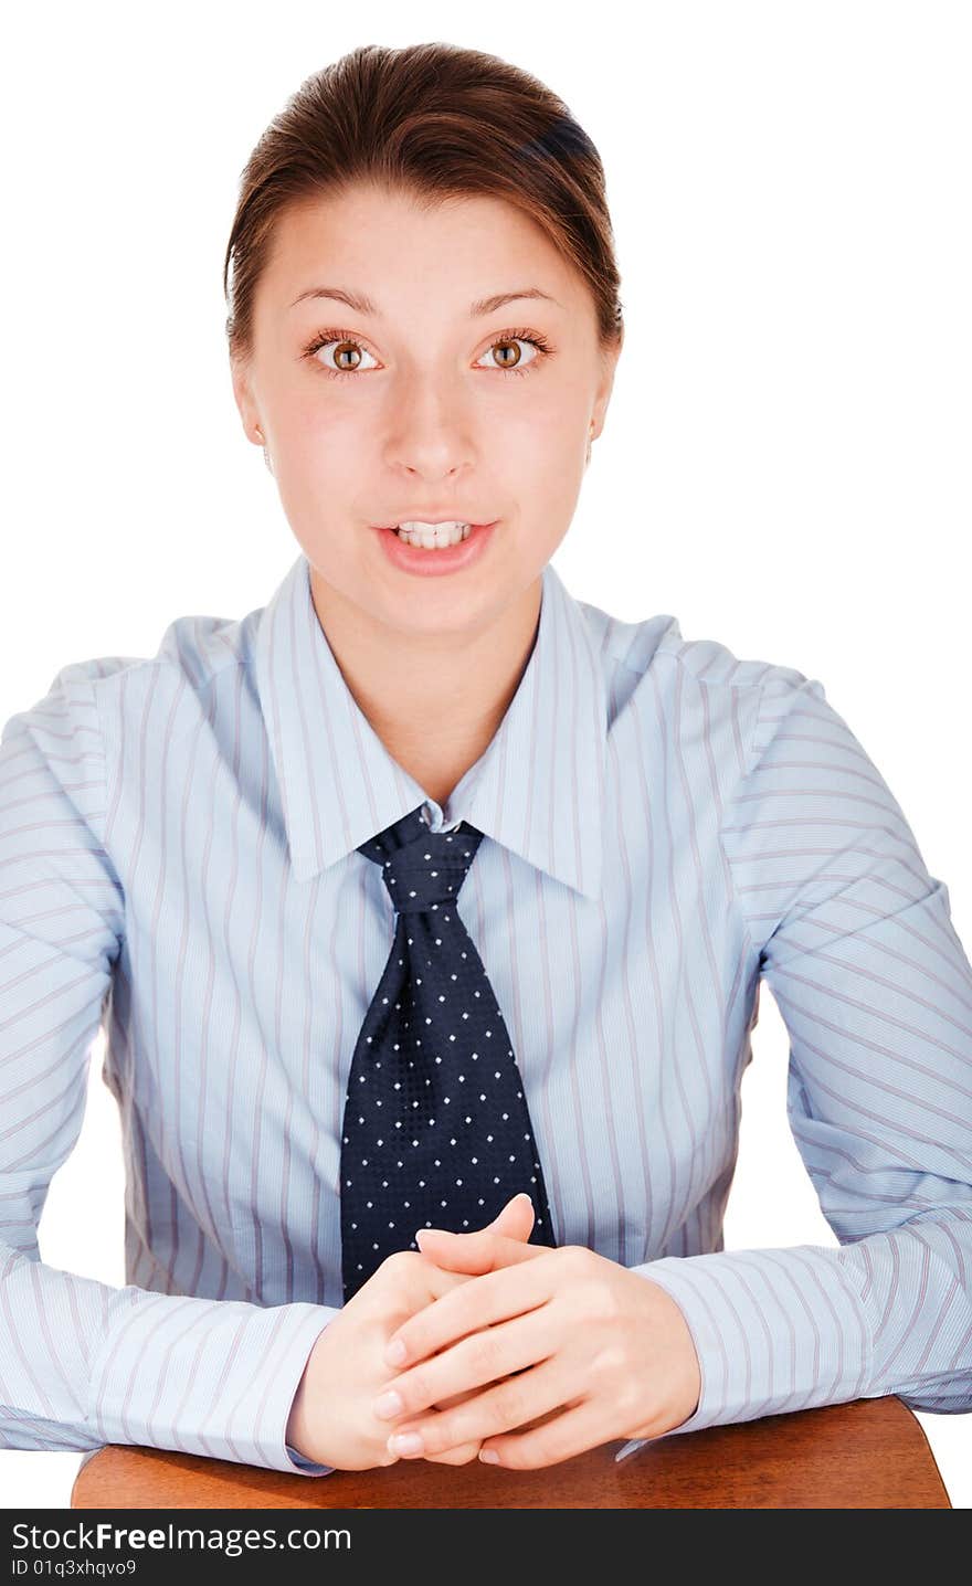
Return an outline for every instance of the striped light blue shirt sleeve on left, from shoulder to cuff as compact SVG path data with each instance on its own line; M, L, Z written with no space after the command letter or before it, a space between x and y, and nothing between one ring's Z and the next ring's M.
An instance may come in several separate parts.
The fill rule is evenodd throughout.
M124 940L90 668L0 734L0 1448L140 1443L330 1475L285 1443L333 1307L114 1288L40 1259Z

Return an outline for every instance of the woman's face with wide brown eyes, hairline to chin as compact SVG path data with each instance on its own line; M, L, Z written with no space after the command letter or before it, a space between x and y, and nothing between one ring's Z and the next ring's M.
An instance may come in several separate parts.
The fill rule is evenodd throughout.
M480 301L523 292L544 295ZM358 184L277 222L233 390L317 576L431 634L488 622L550 560L615 363L587 284L519 209L463 197L423 213ZM495 528L465 566L422 577L387 546L404 519Z

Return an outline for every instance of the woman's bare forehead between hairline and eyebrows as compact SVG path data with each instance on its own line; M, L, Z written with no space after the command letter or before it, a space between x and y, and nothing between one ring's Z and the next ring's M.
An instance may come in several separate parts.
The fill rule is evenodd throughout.
M523 284L576 306L580 292L576 271L515 205L479 195L427 203L373 184L301 200L277 217L263 295L287 309L323 282L368 295L379 311L423 297L439 312L468 312L473 300Z

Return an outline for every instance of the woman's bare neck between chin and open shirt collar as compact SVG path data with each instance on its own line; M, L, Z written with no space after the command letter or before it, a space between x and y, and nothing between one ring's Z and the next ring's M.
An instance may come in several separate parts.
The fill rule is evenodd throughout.
M484 755L538 634L542 577L482 628L403 633L376 622L311 566L311 595L341 676L392 758L446 807Z

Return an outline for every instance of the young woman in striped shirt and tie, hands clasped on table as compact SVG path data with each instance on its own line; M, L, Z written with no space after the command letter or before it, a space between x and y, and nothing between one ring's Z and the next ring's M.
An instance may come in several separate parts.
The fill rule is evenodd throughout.
M969 1410L947 888L818 682L550 565L623 335L590 140L492 56L358 49L230 265L301 554L3 733L0 1442L525 1469ZM723 1248L763 975L834 1248ZM122 1289L36 1250L103 1017Z

